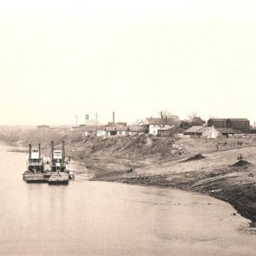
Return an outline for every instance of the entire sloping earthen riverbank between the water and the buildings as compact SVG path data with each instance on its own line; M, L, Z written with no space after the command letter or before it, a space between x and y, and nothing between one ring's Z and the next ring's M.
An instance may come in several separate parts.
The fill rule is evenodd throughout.
M256 138L83 137L81 132L3 129L7 143L66 143L66 154L94 172L92 180L197 191L228 201L256 222ZM237 162L237 156L243 160ZM197 157L199 156L199 157ZM85 169L85 168L84 168ZM88 171L84 171L88 172ZM236 214L236 213L234 213Z

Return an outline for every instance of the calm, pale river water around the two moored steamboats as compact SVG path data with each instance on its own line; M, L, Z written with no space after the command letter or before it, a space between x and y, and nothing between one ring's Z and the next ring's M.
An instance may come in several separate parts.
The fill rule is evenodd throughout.
M255 255L249 221L223 201L86 175L27 184L27 154L11 149L0 144L0 255Z

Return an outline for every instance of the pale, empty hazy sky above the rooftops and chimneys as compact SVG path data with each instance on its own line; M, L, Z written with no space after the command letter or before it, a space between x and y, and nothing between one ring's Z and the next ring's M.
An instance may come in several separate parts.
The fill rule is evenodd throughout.
M256 1L0 1L0 125L256 120Z

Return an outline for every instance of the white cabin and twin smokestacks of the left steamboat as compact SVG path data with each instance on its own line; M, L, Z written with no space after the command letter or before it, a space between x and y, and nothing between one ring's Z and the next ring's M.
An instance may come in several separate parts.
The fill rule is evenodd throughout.
M32 144L28 145L29 147L29 156L27 162L27 171L28 172L44 172L44 160L41 157L41 147L38 144L38 148L32 148Z

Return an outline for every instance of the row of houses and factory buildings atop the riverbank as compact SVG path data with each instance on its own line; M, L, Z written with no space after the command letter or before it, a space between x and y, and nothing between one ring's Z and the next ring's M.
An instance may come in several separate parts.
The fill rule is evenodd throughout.
M67 128L67 127L66 127ZM38 125L38 129L52 129L48 125ZM55 128L57 129L57 128ZM64 127L60 131L63 132ZM208 119L207 125L192 126L183 130L174 125L172 119L168 118L146 118L137 121L134 125L125 122L115 122L114 113L112 122L100 125L97 119L90 120L85 115L85 124L71 128L73 132L79 132L84 137L125 137L125 136L155 136L155 137L207 137L216 138L220 136L230 137L239 134L250 133L250 122L248 119Z

